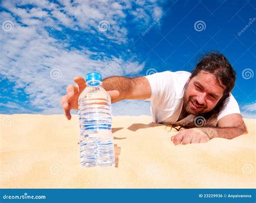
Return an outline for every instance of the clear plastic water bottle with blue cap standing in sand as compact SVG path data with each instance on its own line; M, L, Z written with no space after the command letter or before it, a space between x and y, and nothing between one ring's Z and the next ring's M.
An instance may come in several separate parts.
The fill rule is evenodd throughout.
M99 73L86 75L86 88L78 98L78 114L81 166L114 166L111 99Z

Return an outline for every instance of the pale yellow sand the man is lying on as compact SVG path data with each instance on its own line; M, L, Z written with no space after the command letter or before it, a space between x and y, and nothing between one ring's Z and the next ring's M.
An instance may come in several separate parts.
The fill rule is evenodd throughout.
M1 188L255 188L255 120L232 140L175 146L151 116L113 117L116 167L82 168L78 117L0 115Z

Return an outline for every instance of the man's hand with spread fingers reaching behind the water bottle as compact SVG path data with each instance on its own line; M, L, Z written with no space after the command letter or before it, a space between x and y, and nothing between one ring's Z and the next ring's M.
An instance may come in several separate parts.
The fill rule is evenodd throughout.
M67 94L61 99L62 108L68 120L71 119L70 110L78 109L78 97L86 87L85 79L81 76L74 78L74 81L77 83L77 85L69 85L66 88ZM119 96L119 92L117 90L110 90L107 92L110 94L111 99L117 98Z

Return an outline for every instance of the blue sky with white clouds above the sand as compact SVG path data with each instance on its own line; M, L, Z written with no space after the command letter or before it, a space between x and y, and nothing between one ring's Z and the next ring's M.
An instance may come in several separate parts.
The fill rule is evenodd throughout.
M217 50L237 72L242 115L255 118L256 1L2 1L0 9L0 114L62 114L76 75L192 71ZM150 103L118 102L113 114L150 115Z

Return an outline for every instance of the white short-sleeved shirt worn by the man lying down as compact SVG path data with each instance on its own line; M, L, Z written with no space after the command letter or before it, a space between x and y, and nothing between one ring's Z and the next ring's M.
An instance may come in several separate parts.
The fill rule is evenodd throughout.
M157 123L174 123L183 107L184 86L191 73L186 71L165 71L145 76L151 86L151 115ZM220 118L229 114L240 114L239 106L234 96L227 97L223 109L219 112L213 125L216 126Z

